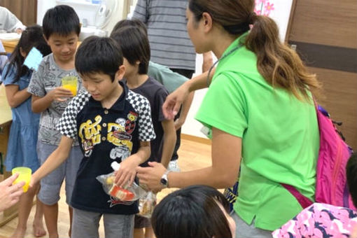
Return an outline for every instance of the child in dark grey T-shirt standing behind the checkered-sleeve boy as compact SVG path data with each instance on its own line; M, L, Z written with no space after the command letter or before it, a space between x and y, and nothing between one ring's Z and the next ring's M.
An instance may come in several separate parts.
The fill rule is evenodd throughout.
M155 79L149 77L148 62L150 60L150 46L144 31L138 27L123 27L111 34L124 56L125 82L130 90L148 99L151 105L151 118L156 139L151 141L151 155L148 162L161 162L167 167L174 152L176 130L174 120L165 119L162 114L162 104L167 97L167 90ZM147 163L141 165L148 166ZM135 216L134 237L153 237L151 223L148 218Z

